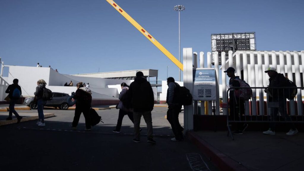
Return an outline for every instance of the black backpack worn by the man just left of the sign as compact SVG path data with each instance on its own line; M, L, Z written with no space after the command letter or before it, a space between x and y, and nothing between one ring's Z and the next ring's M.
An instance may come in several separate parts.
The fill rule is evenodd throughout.
M180 86L175 84L176 88L174 89L174 102L178 103L179 105L192 105L192 94L190 90L184 86Z

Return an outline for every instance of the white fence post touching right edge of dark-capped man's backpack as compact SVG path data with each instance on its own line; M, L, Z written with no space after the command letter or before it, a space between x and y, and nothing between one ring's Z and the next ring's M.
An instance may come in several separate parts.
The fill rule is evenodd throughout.
M251 72L251 86L255 87L255 63L254 63L254 52L250 52L250 72ZM251 108L252 115L257 115L257 92L256 89L252 89L252 100Z

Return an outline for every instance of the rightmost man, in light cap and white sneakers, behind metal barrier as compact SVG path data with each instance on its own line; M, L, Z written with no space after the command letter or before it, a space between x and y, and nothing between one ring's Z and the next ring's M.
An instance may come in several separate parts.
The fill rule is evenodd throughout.
M269 67L265 73L269 76L269 86L268 86L268 103L269 102L278 102L279 107L271 108L271 121L274 121L277 117L278 111L280 111L281 116L285 118L285 120L290 121L290 117L287 114L286 108L286 98L284 96L283 89L271 89L271 87L285 87L287 84L287 80L285 76L281 73L277 72L275 67ZM286 133L286 135L294 135L298 133L298 130L295 128L295 124L289 124L290 130ZM264 131L263 134L275 135L275 123L270 123L269 130Z

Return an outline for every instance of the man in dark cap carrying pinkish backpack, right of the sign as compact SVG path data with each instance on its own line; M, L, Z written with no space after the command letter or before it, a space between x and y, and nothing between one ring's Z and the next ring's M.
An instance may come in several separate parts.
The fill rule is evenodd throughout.
M229 87L240 87L240 82L236 79L240 79L239 76L235 76L235 69L232 67L227 68L226 71L227 76L230 78ZM244 100L235 96L234 89L230 89L229 91L229 109L230 109L230 119L232 120L240 120L240 116L245 112ZM238 122L236 124L237 130L233 132L233 134L243 134L243 131L247 128L248 124L243 124Z

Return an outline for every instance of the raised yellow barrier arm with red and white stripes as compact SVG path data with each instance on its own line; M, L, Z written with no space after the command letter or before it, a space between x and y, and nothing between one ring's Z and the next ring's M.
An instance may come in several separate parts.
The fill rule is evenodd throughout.
M116 2L113 0L106 0L116 11L124 16L140 33L142 33L151 43L153 43L161 52L163 52L178 68L183 71L183 64L178 61L166 48L163 47L154 37L151 36L147 30L143 29L129 14L126 13Z

